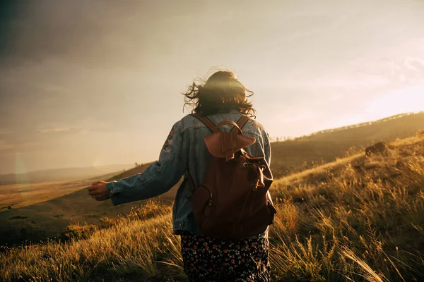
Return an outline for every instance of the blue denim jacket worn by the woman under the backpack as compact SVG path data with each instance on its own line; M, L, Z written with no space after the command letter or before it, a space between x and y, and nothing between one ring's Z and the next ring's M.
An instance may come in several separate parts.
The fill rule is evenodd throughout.
M230 120L237 122L242 114L230 111L226 114L213 114L208 118L218 124L220 121ZM222 125L220 130L230 131L233 125ZM257 121L250 119L242 128L244 135L253 136L256 142L247 147L246 151L254 157L265 157L270 164L271 147L268 133ZM107 183L107 191L114 205L138 200L145 200L161 195L170 190L184 176L188 170L194 183L202 181L211 155L206 149L204 137L211 134L204 123L194 116L187 115L172 126L170 134L160 151L159 160L129 178ZM173 231L178 234L181 230L201 235L201 231L192 213L189 200L191 196L189 181L179 186L172 210ZM268 236L268 230L257 237Z

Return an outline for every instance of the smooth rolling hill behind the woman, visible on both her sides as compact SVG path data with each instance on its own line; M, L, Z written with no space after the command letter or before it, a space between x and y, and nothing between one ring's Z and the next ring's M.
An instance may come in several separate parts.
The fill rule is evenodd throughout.
M335 161L337 157L343 157L351 147L357 147L359 152L360 148L370 145L372 142L393 141L397 138L415 135L418 130L423 129L424 113L405 114L372 123L325 130L295 140L273 142L271 144L273 151L271 169L274 178L288 176L293 171L312 168L312 162L322 160L323 163L330 163ZM304 165L305 163L306 165ZM37 204L0 212L0 245L53 237L58 235L71 221L95 223L101 216L114 217L117 214L126 214L131 207L141 203L134 202L112 207L110 201L93 201L87 196L86 190L81 190L81 188L90 185L95 180L118 180L142 173L148 165L144 164L124 172L109 173L79 182L70 182L67 185L74 185L73 191L75 192L66 192L66 195L62 192L61 197L54 199L49 197L46 202L40 200ZM56 187L57 190L61 189L59 183ZM160 198L169 204L175 197L176 189L176 187L172 188Z

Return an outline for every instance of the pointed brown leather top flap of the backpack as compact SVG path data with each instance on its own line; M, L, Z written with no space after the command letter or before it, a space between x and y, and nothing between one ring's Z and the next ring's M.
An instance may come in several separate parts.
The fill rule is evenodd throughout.
M225 158L225 161L234 159L235 152L256 142L254 137L225 132L212 133L204 140L209 153L216 158Z

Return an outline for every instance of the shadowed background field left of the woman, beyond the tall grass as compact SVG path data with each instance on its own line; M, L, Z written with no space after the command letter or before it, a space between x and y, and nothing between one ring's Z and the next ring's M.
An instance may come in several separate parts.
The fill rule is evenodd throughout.
M137 166L131 170L129 175L142 172L147 166L148 164ZM8 209L6 205L2 206L0 245L20 244L25 241L34 243L47 238L57 238L66 226L73 222L100 223L103 216L116 218L119 214L128 214L131 208L139 207L146 201L114 207L110 201L97 202L93 200L84 189L97 180L124 178L127 176L126 173L128 171L69 183L36 183L31 186L25 185L26 189L23 191L13 190L5 195L2 195L1 191L3 190L0 190L0 200L5 197L5 202L17 203L11 209ZM180 182L176 186L179 184ZM7 187L7 185L0 187L4 188L5 186ZM176 191L177 187L172 188L155 199L170 205L175 199Z

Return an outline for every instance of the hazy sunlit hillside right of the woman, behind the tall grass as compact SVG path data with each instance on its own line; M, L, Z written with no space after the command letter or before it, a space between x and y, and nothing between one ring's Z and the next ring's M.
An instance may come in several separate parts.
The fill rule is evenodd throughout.
M271 168L276 178L310 168L314 164L334 161L379 141L415 135L424 130L424 112L401 114L379 121L324 130L294 140L272 142Z

